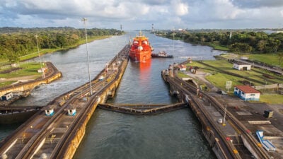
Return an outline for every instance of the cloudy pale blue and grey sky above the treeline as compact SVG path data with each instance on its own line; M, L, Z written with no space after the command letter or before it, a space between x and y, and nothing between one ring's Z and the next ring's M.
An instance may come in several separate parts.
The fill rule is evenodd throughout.
M0 0L0 27L283 28L283 0Z

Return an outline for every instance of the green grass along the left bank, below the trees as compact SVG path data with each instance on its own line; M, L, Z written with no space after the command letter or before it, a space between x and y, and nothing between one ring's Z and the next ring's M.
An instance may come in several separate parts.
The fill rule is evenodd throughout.
M108 38L108 37L110 37L110 36L90 37L88 39L88 42L92 42L94 40L105 39L105 38ZM86 40L80 40L77 45L71 45L71 46L65 47L65 48L40 49L40 55L78 47L79 45L82 45L85 42L86 42ZM23 57L20 57L20 61L25 61L27 59L33 59L33 58L36 58L36 57L38 57L38 52L37 52L37 50L34 50L33 53L30 53L30 54L27 54ZM2 67L0 67L0 72L1 72L0 78L7 79L7 80L0 81L0 88L4 87L4 86L11 85L12 83L15 83L16 81L13 80L13 78L16 78L16 77L29 76L29 78L36 79L36 78L41 76L41 73L37 73L37 70L40 69L39 63L26 63L26 64L20 64L19 63L18 64L19 69L16 69L16 70L13 71L14 68L11 67L11 64L8 63L8 61L4 61L4 60L1 61L0 60L0 62L2 63L1 64ZM6 65L6 66L4 66L4 65ZM9 80L9 78L11 78L11 80Z

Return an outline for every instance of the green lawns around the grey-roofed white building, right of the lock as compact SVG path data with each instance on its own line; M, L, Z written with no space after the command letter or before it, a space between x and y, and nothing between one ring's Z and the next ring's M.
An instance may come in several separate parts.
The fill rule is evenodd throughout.
M232 89L230 89L230 95L233 95L233 86L243 85L241 81L245 80L250 83L253 83L255 86L262 86L265 83L265 80L268 84L273 83L282 83L282 76L276 76L270 72L264 71L262 69L253 68L250 71L238 71L233 69L233 64L229 63L226 60L215 60L215 61L202 61L204 64L193 61L192 64L187 64L187 66L198 66L200 69L198 71L204 71L209 75L205 78L207 81L212 83L214 86L221 90L226 90L226 81L232 81ZM207 65L205 65L207 64ZM228 73L236 73L238 76L229 75ZM268 74L275 77L276 79L266 78L263 74ZM188 74L189 76L190 74ZM185 73L178 73L180 77L186 77ZM197 81L204 86L204 83ZM260 90L262 95L260 95L260 102L267 102L272 104L282 104L283 95L277 95L273 93L273 90L267 90L267 93L264 93L264 90Z

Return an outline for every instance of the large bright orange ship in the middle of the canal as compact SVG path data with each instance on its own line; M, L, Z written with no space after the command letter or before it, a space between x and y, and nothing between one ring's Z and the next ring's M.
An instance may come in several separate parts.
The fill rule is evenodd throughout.
M129 57L134 61L145 62L147 59L151 59L151 50L148 38L139 32L139 36L134 37L129 50Z

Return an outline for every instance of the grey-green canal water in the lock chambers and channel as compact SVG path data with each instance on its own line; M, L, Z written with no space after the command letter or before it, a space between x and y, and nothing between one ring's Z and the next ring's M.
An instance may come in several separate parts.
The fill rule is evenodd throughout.
M88 43L91 78L122 49L138 32L96 40ZM151 59L139 64L129 61L115 98L111 103L166 103L176 102L161 78L161 71L173 62L194 59L214 59L221 54L211 47L191 45L180 40L169 40L145 33L154 52L166 51L174 59ZM86 45L63 52L42 56L51 61L63 76L13 105L47 105L58 95L88 82ZM38 60L38 59L35 59ZM0 125L0 140L11 134L18 124ZM216 158L202 136L200 123L188 108L151 116L134 116L97 109L86 128L74 158Z

